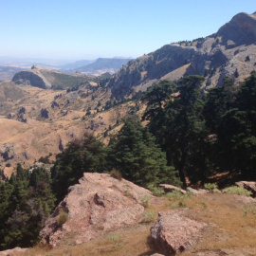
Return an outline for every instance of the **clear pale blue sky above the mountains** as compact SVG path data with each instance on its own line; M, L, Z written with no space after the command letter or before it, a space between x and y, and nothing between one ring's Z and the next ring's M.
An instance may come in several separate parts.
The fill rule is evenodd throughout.
M205 37L255 0L0 0L0 57L138 57Z

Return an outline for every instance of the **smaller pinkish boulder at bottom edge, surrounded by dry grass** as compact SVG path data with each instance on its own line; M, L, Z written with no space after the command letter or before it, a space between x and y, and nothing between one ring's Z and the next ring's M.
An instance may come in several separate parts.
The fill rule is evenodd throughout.
M165 256L181 253L196 244L207 224L185 217L177 210L158 213L151 235L159 253Z

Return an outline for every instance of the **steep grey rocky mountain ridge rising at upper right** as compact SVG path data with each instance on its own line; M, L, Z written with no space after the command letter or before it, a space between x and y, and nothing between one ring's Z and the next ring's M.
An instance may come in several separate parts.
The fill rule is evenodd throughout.
M205 87L236 82L256 70L256 15L239 13L209 37L171 44L123 66L109 86L115 98L146 90L159 80L204 76Z

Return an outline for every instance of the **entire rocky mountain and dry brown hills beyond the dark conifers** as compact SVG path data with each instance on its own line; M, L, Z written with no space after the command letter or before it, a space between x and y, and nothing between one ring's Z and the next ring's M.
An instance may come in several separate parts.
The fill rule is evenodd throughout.
M29 167L50 153L54 160L68 141L86 131L107 142L119 131L121 119L129 113L143 115L145 102L132 101L131 94L159 80L201 74L206 89L222 84L225 76L243 81L256 69L255 21L255 14L239 13L205 39L163 46L124 64L114 78L68 75L40 66L18 72L12 82L0 83L0 168L18 162ZM113 60L99 59L89 67Z

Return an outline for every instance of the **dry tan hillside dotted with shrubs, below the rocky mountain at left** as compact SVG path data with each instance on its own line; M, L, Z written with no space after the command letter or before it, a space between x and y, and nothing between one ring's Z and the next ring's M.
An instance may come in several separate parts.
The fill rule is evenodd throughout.
M119 120L135 107L135 102L104 110L111 92L94 89L87 82L79 90L52 90L0 83L0 168L18 162L27 168L41 156L61 152L85 132L107 142L103 135L116 133Z

